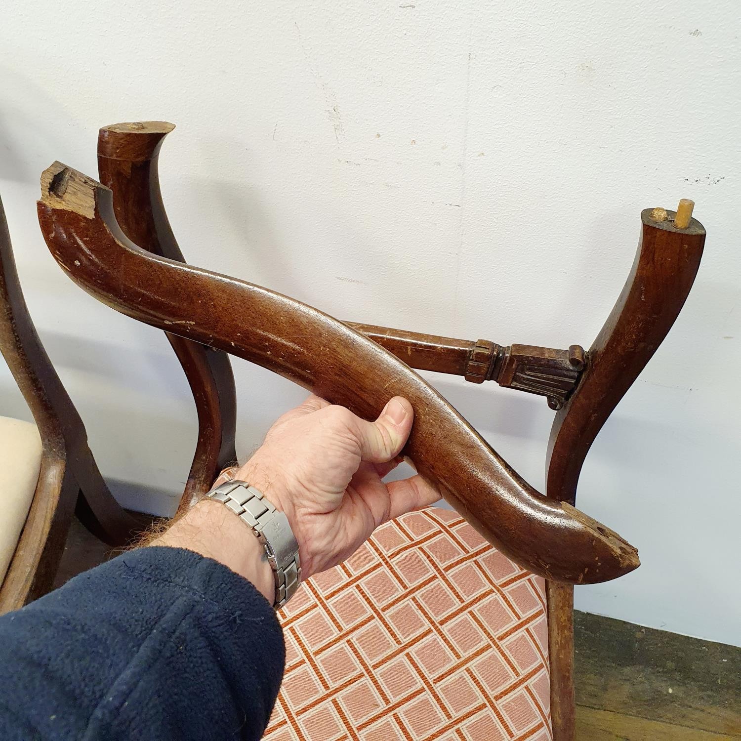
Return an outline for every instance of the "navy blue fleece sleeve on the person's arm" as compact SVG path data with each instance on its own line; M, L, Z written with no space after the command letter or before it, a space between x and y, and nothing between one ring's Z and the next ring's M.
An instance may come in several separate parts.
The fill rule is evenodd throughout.
M284 662L253 585L140 548L0 617L0 739L259 739Z

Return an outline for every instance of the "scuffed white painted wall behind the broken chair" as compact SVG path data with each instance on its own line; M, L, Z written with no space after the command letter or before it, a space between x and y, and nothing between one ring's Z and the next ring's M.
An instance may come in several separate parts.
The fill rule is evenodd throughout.
M588 346L639 211L688 197L700 275L579 488L643 565L576 599L741 645L740 33L730 0L6 0L0 189L33 318L122 501L170 510L196 428L162 334L82 293L39 234L39 173L95 175L99 126L178 124L162 181L190 262L501 343ZM247 452L302 391L235 365ZM27 417L4 373L0 412ZM545 401L429 377L542 487Z

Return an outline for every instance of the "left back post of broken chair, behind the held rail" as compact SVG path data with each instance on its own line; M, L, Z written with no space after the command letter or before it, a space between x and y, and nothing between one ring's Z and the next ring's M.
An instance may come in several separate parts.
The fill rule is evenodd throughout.
M159 189L159 149L173 124L145 122L103 127L98 138L101 182L113 191L116 221L134 244L185 262ZM229 356L167 332L187 376L198 414L198 442L181 508L203 496L219 471L236 462L236 392Z

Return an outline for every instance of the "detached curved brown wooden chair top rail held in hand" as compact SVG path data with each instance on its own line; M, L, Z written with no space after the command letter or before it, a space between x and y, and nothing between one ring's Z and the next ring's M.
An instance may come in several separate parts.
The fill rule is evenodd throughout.
M39 222L67 275L128 316L256 362L366 419L405 396L416 415L405 455L524 568L594 583L639 565L617 534L531 488L445 399L365 336L287 296L134 245L116 224L107 187L55 163L41 176Z

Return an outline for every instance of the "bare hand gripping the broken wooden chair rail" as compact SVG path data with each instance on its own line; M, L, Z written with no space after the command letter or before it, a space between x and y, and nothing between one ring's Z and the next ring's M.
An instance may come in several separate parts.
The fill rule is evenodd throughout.
M401 396L376 422L309 396L275 422L245 465L223 471L215 485L246 481L285 512L306 579L347 559L379 525L440 498L419 475L382 481L401 462L412 421Z

